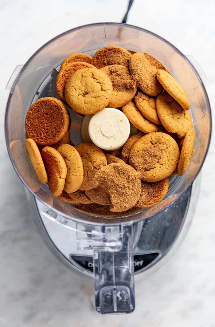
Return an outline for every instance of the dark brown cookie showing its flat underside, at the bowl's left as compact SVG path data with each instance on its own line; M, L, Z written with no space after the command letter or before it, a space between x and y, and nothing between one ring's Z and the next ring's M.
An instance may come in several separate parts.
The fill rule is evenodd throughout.
M25 129L29 138L40 145L53 145L68 130L69 115L64 104L52 97L34 102L25 117Z

